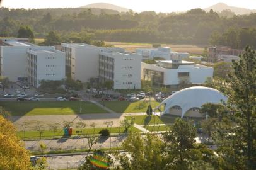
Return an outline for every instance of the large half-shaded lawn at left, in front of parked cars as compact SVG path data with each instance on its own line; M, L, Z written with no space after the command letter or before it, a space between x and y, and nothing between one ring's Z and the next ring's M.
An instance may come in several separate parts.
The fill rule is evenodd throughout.
M86 113L108 113L108 111L86 101L1 101L0 106L13 116L23 115L73 115Z

